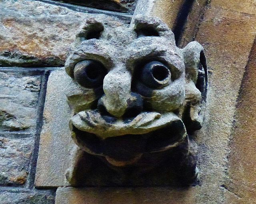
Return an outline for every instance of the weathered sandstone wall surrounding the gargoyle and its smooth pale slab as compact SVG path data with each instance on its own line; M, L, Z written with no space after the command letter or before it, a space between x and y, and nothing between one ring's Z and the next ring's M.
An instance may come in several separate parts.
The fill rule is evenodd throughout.
M112 2L121 10L108 9L107 0L100 2L104 10L51 0L0 1L0 203L256 203L255 2L138 0L129 1L129 8L128 1ZM48 76L62 69L77 29L92 14L129 26L142 8L172 28L178 46L196 40L206 52L208 106L196 138L198 185L88 188L88 194L62 188L68 184L35 188Z

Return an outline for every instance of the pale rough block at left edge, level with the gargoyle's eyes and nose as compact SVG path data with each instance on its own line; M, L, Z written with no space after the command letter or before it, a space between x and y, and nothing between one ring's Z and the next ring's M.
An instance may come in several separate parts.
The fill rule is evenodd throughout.
M33 131L41 76L0 72L0 131Z

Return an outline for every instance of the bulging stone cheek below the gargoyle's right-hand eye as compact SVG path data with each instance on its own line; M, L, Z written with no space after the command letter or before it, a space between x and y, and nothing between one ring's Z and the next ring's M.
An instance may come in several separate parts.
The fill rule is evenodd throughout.
M178 79L162 89L150 89L143 84L138 84L137 90L141 91L144 108L155 111L175 111L185 101L184 80ZM142 87L143 86L143 87Z

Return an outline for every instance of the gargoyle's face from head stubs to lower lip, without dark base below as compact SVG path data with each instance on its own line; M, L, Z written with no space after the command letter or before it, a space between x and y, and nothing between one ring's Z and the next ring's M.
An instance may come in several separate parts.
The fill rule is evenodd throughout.
M201 127L207 71L198 42L177 48L166 24L143 16L113 29L92 18L76 37L65 68L77 90L67 98L72 138L84 151L140 165Z

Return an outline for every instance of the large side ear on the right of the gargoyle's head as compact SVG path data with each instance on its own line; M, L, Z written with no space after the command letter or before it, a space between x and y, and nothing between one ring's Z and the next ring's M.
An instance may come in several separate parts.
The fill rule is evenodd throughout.
M186 76L186 107L183 121L188 132L201 128L208 85L207 62L203 47L190 42L182 49Z

